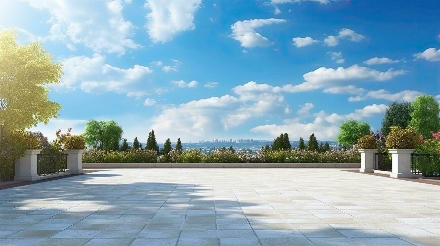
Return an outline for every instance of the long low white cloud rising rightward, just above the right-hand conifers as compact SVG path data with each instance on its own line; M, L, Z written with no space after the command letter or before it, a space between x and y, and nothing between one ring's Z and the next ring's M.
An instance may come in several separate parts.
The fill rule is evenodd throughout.
M301 123L298 119L286 119L282 125L261 125L251 129L251 132L269 134L276 137L280 132L286 132L290 138L297 139L299 137L308 137L314 133L318 139L331 140L336 137L338 133L338 126L341 122L347 119L363 119L374 115L385 113L386 105L367 105L362 109L356 109L355 112L347 115L338 115L336 113L326 114L326 112L319 112L312 123Z

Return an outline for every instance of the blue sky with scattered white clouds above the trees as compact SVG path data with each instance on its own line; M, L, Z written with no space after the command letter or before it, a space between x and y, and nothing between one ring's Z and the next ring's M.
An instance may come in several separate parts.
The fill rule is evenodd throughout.
M19 0L0 28L64 63L40 130L114 119L159 142L333 140L347 119L380 128L391 101L440 99L440 7L398 0Z

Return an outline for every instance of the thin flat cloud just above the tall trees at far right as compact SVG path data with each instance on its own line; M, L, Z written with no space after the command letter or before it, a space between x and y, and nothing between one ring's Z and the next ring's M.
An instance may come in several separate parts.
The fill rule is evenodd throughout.
M364 96L356 96L348 98L348 101L363 101L367 99L384 99L389 101L414 101L418 95L424 93L416 90L402 90L397 93L390 93L388 90L370 90Z

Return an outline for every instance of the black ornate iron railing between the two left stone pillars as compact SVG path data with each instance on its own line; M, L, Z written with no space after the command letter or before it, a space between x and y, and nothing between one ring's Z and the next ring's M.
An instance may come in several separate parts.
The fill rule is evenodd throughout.
M37 156L38 176L64 173L66 169L67 154L40 154Z

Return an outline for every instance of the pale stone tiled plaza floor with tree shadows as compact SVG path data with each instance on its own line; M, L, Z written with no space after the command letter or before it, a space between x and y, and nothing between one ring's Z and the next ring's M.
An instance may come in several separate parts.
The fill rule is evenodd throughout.
M334 169L114 169L0 190L0 245L440 245L440 187Z

